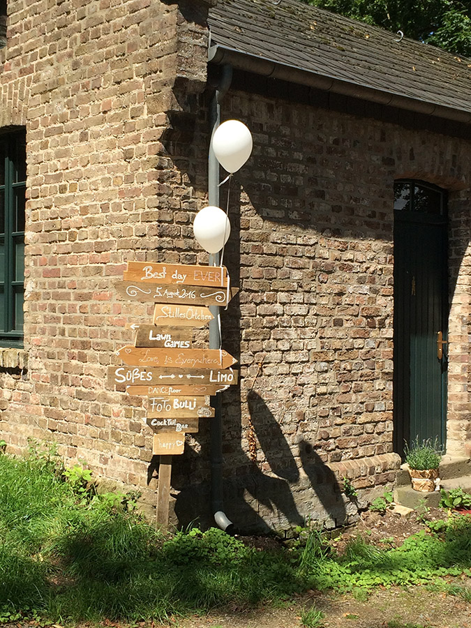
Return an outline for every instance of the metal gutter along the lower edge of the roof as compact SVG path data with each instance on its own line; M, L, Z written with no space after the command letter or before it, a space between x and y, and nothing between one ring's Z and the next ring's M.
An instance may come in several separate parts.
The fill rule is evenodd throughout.
M289 66L285 63L277 63L272 59L239 52L239 50L218 44L209 48L208 60L210 63L216 64L230 63L237 70L246 70L265 77L315 87L324 91L333 91L334 94L352 96L353 98L368 100L370 103L389 105L389 107L398 107L399 109L438 116L463 124L471 124L471 112L429 103L426 100L408 98L407 96L374 89L366 85L350 83L328 75L316 74L310 70Z

